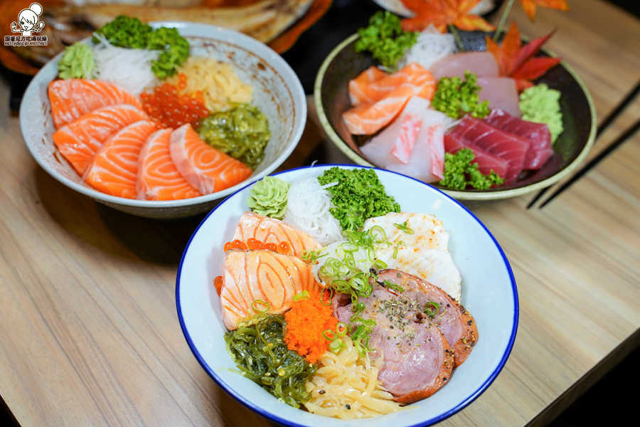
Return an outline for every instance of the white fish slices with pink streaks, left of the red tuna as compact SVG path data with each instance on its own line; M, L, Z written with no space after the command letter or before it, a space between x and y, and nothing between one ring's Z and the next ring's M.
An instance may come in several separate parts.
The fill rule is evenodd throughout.
M398 119L362 147L363 154L378 167L420 181L442 179L446 116L428 107L429 101L412 97Z

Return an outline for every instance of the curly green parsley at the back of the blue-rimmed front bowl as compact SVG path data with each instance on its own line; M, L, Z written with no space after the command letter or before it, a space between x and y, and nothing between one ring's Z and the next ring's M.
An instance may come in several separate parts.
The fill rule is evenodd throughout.
M334 208L329 209L343 230L358 230L364 221L389 212L400 212L400 205L385 193L373 169L341 169L332 167L318 177L321 185L338 182L329 187Z

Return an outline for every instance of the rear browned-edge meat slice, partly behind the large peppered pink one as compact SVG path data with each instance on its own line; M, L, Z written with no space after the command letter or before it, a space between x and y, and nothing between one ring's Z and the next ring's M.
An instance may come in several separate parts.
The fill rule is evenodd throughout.
M381 270L378 273L378 283L383 284L385 280L399 285L405 290L402 295L419 303L421 307L425 307L427 302L439 305L437 312L434 305L429 305L427 310L431 315L423 315L430 317L444 337L447 337L455 354L455 367L459 367L478 342L478 327L471 314L447 292L415 275L398 270Z

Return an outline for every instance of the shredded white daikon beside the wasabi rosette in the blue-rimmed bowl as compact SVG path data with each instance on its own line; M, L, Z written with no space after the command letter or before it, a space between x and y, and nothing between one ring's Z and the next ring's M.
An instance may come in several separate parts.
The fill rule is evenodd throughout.
M340 223L329 212L332 207L331 193L320 186L315 176L309 176L292 182L282 220L326 246L345 240Z

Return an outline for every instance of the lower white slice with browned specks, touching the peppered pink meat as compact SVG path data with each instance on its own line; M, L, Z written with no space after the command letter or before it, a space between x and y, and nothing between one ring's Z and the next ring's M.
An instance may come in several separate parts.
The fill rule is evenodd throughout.
M441 288L456 301L460 300L462 278L449 251L400 246L393 258L394 252L393 246L380 248L375 251L375 258L387 264L387 268L417 275Z

